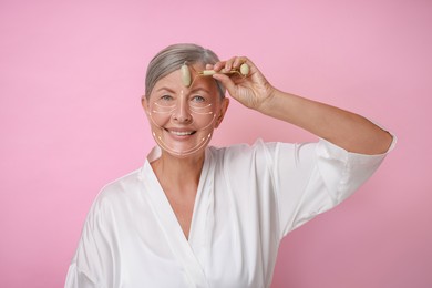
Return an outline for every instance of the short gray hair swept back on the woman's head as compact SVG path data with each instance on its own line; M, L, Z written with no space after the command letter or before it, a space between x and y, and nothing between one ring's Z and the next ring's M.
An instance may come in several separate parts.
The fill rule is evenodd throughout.
M169 45L160 51L148 63L145 76L145 97L148 99L154 85L162 78L178 70L184 63L215 64L219 58L209 49L197 44L182 43ZM220 97L225 97L225 88L216 81Z

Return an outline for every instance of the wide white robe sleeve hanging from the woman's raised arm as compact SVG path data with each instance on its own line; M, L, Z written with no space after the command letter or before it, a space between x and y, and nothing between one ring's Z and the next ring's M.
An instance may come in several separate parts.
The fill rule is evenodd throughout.
M356 192L387 154L349 153L325 140L308 144L278 143L272 150L272 175L280 237Z

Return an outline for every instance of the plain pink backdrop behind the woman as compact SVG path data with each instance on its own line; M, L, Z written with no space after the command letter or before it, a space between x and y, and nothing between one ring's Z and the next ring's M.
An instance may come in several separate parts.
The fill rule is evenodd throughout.
M92 2L92 3L90 3ZM432 2L0 1L0 287L62 287L99 189L154 145L147 61L248 55L281 90L399 137L343 205L290 234L272 287L432 287ZM214 145L313 141L232 102Z

